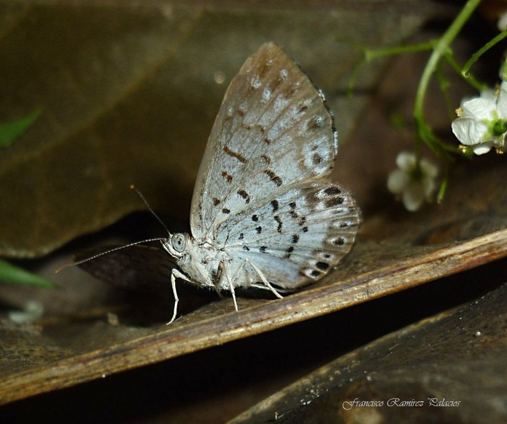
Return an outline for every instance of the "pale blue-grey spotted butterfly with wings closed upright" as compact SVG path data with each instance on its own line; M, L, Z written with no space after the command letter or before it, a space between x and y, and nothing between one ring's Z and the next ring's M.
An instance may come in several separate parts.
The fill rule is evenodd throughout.
M177 266L169 323L176 279L229 291L238 310L236 288L281 298L338 264L360 211L328 178L337 149L322 92L278 45L263 44L231 81L215 119L194 188L191 234L156 239Z

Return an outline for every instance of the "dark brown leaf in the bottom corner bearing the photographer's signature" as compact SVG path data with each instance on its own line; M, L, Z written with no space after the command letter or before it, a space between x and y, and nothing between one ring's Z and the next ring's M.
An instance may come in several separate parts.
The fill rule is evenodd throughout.
M504 284L470 304L350 352L230 424L273 420L503 423L507 419L506 316ZM382 404L358 406L354 401ZM411 401L422 403L411 406ZM403 402L408 404L402 406Z

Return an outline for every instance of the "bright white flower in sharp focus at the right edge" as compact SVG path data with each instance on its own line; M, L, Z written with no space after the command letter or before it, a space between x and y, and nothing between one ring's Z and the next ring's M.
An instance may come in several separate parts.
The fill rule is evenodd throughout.
M507 82L502 82L498 93L484 90L481 97L464 101L458 116L451 125L452 132L463 145L471 146L476 155L488 153L493 147L505 150Z

